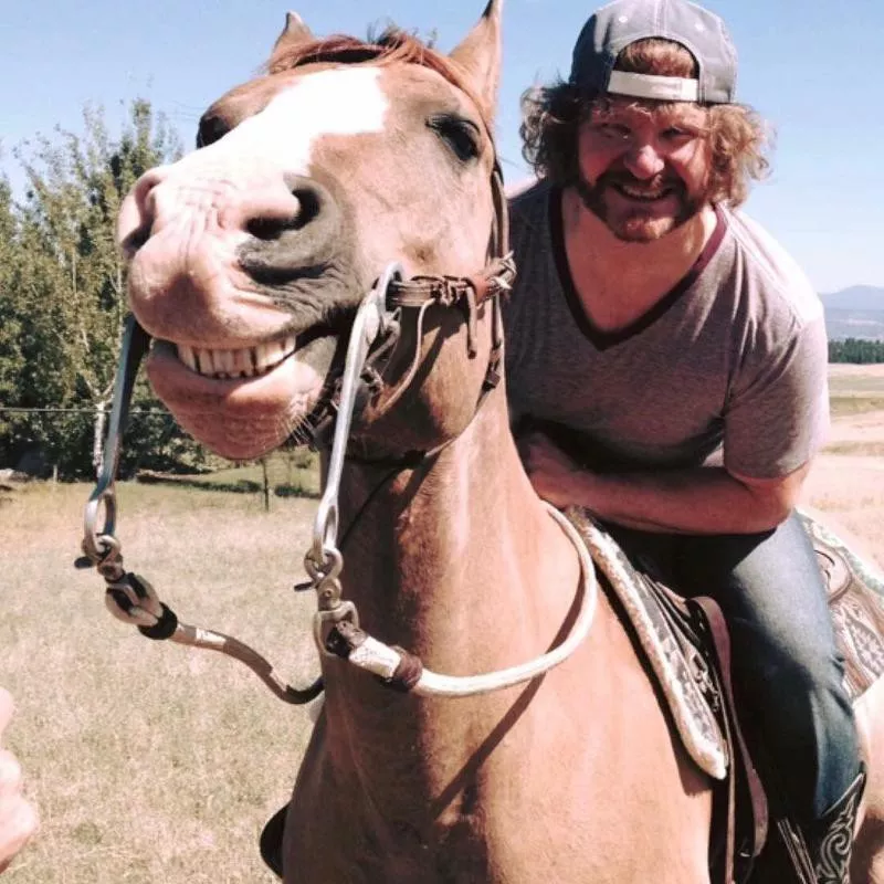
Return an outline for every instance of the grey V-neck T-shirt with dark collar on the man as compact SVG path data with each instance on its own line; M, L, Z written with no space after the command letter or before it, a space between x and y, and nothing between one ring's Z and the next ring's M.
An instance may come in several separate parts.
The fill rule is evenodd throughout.
M581 309L565 256L560 191L511 200L518 266L504 305L514 424L559 425L598 470L725 466L788 475L829 427L822 305L780 245L740 212L645 316L604 334ZM567 428L567 429L566 429Z

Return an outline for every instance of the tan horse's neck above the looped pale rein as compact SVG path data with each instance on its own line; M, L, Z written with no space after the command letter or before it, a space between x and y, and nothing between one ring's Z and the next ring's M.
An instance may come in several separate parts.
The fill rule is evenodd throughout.
M341 498L344 528L358 519L344 549L345 594L372 632L408 641L431 666L445 657L461 669L465 652L487 653L466 648L475 628L499 629L512 619L536 633L538 611L549 601L543 576L555 580L557 562L577 573L576 556L532 490L496 401L414 470L392 477L354 470ZM566 610L572 597L573 587L562 593Z

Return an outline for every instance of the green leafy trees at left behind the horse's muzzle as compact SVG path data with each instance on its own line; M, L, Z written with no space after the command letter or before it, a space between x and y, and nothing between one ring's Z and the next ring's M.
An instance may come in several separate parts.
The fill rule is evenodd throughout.
M94 474L94 438L113 396L126 315L120 203L145 171L180 155L146 101L129 106L116 137L101 108L86 107L83 124L15 150L21 200L0 178L0 466L30 456L67 477ZM135 418L124 472L169 469L196 451L145 383L134 408L151 413Z

